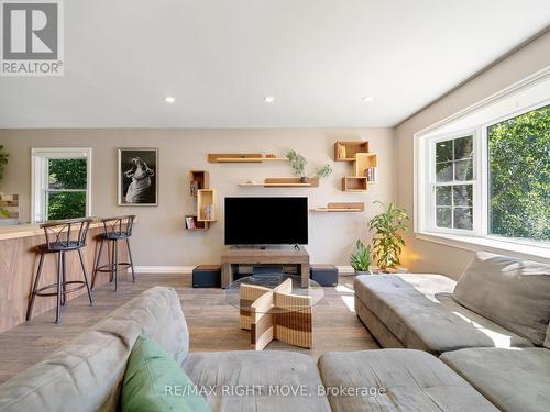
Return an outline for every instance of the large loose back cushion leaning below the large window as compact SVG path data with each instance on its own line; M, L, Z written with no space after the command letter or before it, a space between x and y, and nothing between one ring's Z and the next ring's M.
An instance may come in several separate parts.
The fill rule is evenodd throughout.
M542 345L550 322L550 265L480 252L460 277L452 297Z

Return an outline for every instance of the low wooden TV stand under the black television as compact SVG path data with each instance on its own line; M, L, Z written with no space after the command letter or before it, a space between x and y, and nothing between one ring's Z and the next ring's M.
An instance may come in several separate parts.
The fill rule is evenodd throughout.
M309 287L309 254L304 246L272 246L266 248L226 246L221 255L221 287L233 281L233 265L298 265L301 287Z

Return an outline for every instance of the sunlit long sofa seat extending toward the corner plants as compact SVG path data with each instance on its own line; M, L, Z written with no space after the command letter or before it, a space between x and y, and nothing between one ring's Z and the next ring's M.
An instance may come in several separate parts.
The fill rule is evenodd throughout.
M436 355L465 347L532 346L451 298L455 282L440 275L365 275L355 294L406 346Z

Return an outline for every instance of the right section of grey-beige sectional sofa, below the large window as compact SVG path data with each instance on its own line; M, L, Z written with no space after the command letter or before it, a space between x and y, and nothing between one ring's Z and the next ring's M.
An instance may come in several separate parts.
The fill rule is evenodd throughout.
M549 265L480 253L458 282L361 276L354 289L383 347L440 356L501 410L550 410Z

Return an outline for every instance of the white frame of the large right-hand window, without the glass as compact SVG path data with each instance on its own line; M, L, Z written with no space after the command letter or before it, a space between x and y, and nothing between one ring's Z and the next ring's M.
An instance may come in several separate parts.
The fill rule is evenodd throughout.
M414 135L414 231L418 238L477 250L494 245L517 255L548 256L550 242L499 236L490 233L488 127L550 104L550 68L444 119ZM536 89L536 87L542 86ZM530 90L535 90L531 92ZM498 113L494 115L494 113ZM469 124L471 123L471 124ZM453 127L453 124L462 125ZM466 124L466 126L464 126ZM455 130L453 130L455 129ZM439 131L439 133L438 133ZM473 136L473 229L436 226L436 143ZM454 179L454 176L453 176ZM519 252L524 250L524 252Z

